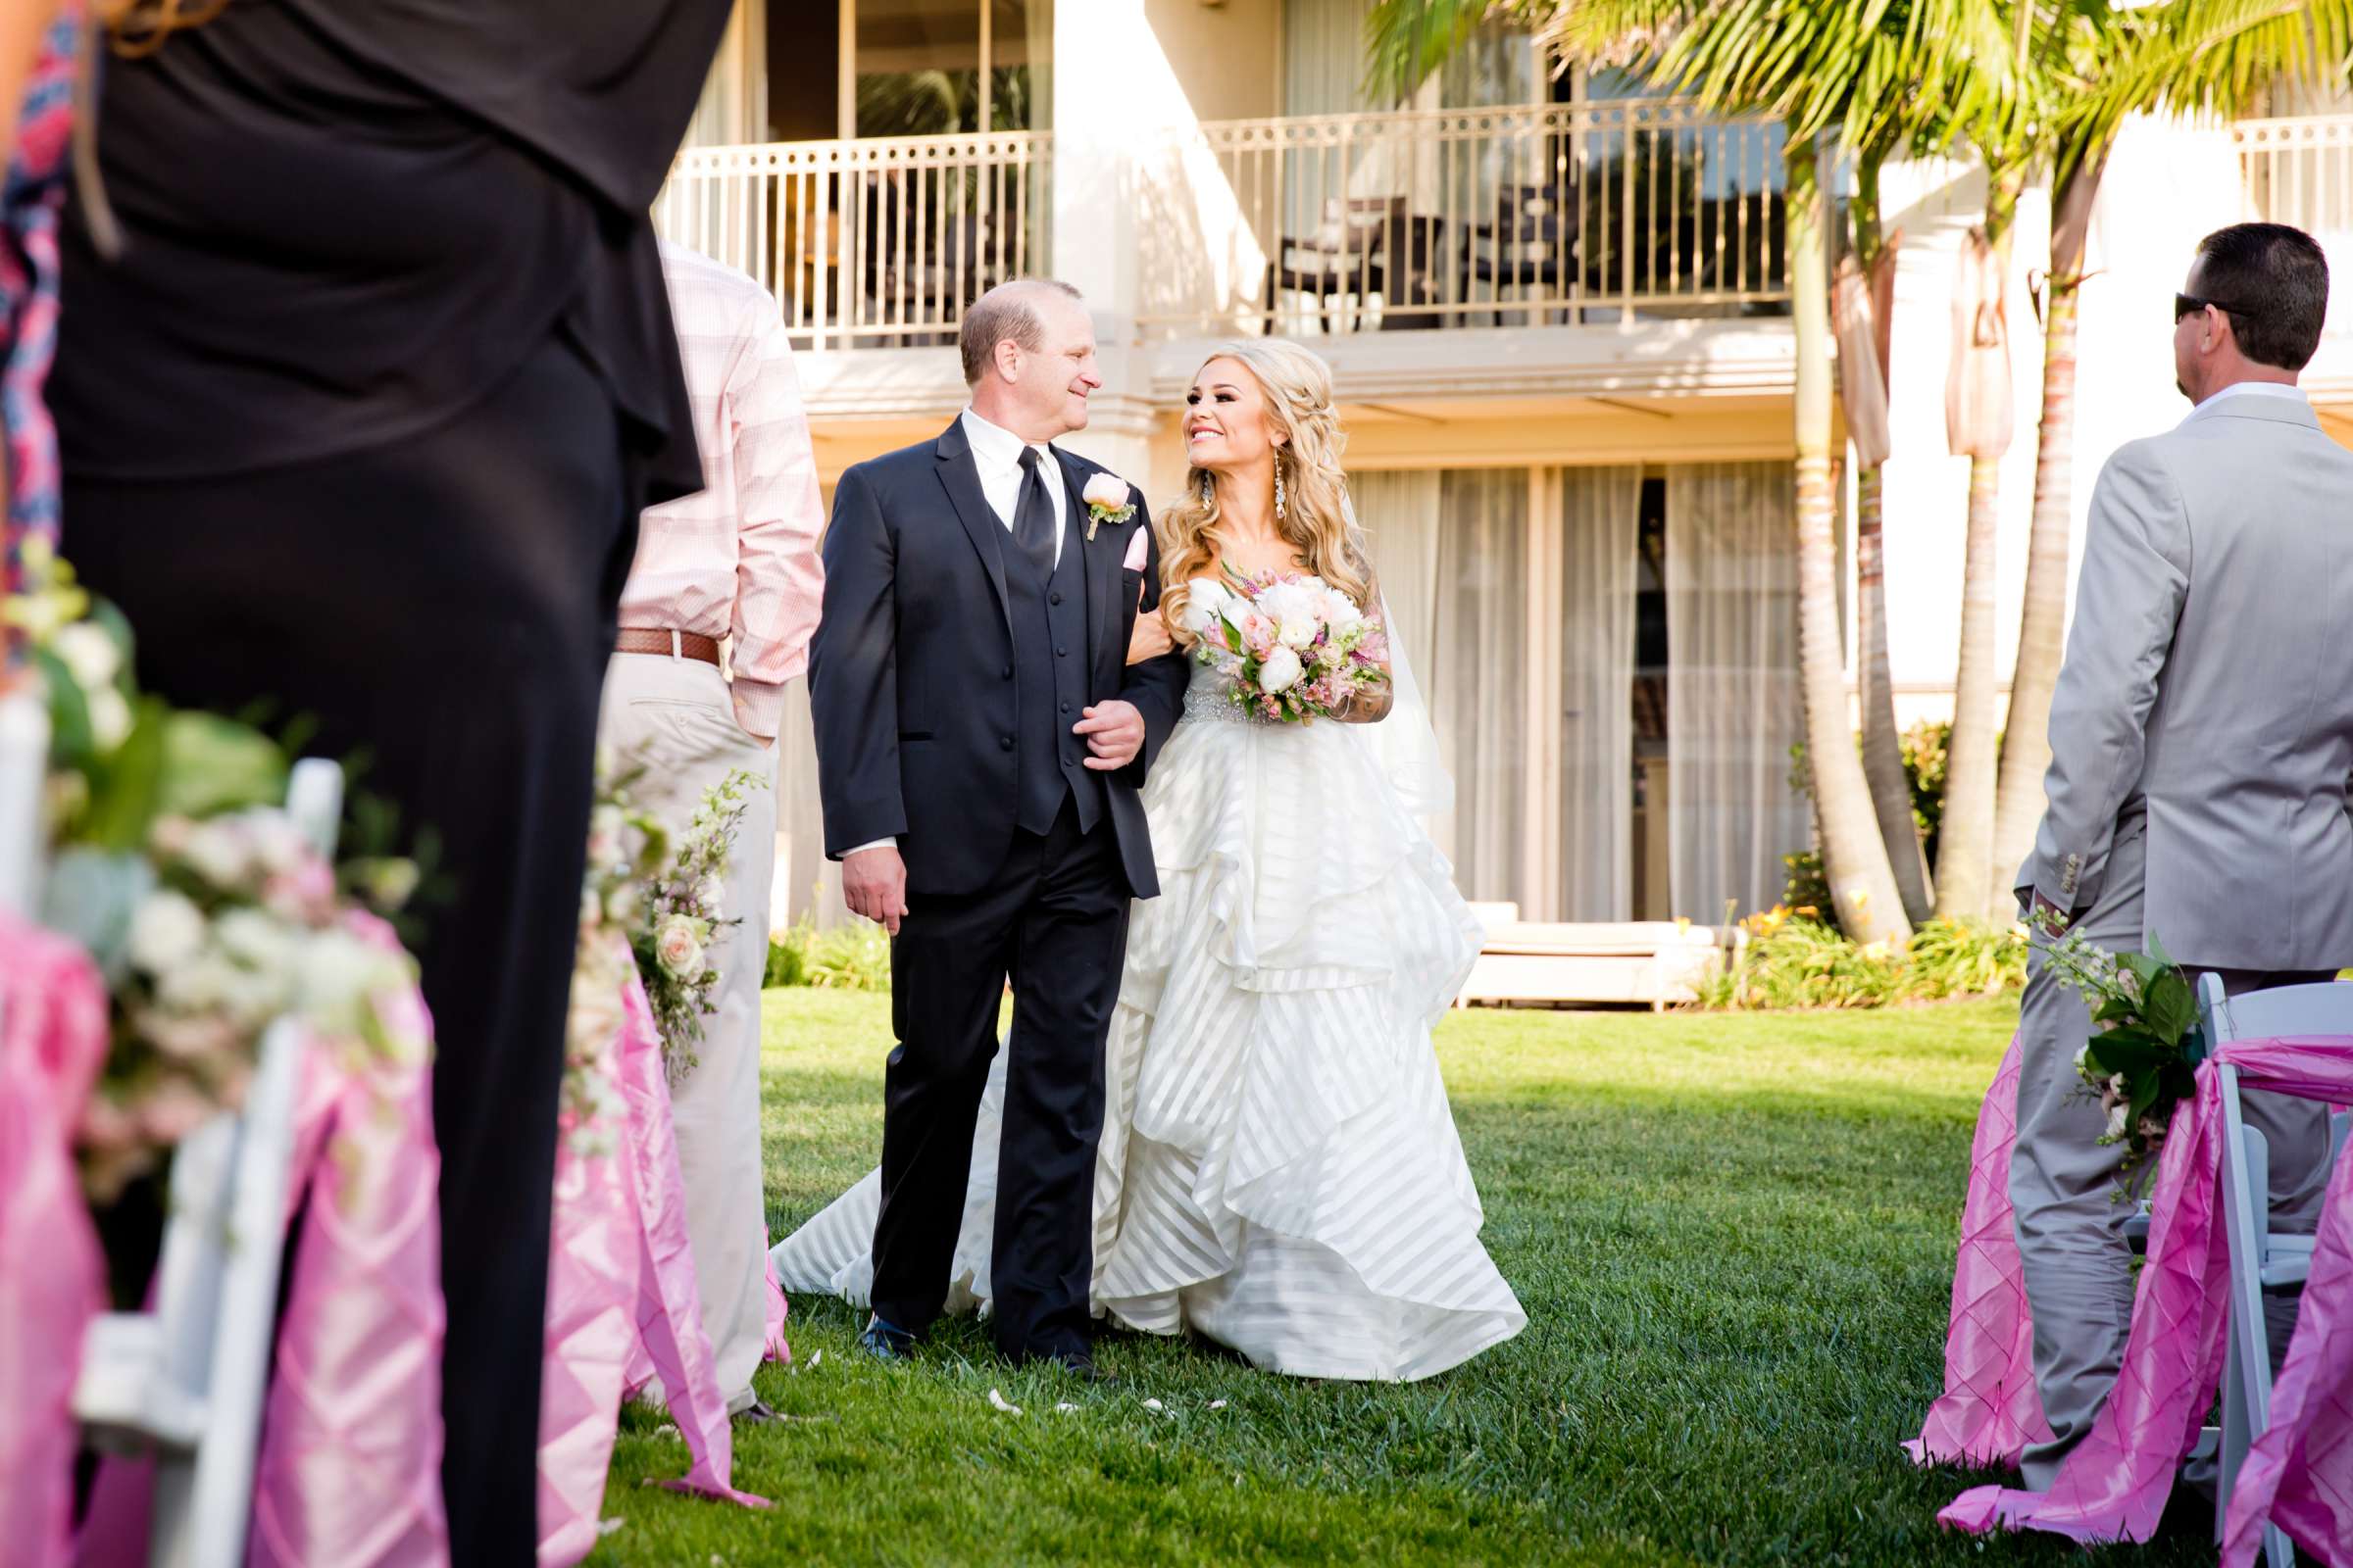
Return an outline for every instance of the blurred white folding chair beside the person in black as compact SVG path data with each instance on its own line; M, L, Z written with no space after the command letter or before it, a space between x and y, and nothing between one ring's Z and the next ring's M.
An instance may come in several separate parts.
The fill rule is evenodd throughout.
M344 771L299 762L287 811L322 851ZM238 1112L172 1157L172 1213L148 1312L89 1326L73 1413L111 1453L155 1455L151 1568L235 1568L254 1507L254 1450L278 1316L301 1030L280 1018Z

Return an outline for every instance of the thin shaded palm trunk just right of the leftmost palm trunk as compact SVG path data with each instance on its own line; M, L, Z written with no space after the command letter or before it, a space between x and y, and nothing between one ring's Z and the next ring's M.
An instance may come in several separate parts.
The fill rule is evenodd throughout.
M1880 268L1889 266L1887 237L1880 230L1880 158L1864 148L1854 158L1854 254L1864 268L1864 292L1873 301L1873 348L1880 360L1880 386L1887 378L1887 322L1878 313ZM1854 663L1861 677L1864 705L1864 778L1887 844L1887 865L1904 896L1904 919L1915 926L1934 910L1927 879L1927 856L1920 851L1920 825L1913 820L1911 776L1904 771L1904 741L1897 736L1894 677L1887 670L1887 555L1882 524L1887 517L1887 475L1871 463L1854 475Z

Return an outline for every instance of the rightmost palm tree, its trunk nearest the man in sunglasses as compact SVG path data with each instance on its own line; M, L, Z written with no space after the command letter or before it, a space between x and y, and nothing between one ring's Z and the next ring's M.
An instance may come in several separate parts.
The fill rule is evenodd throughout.
M2049 766L2049 708L2066 623L2068 517L2075 480L2075 324L2085 237L2108 153L2137 113L2238 118L2282 78L2353 71L2353 0L2169 0L2118 9L2057 7L2042 26L2059 89L2052 122L2052 261L2042 308L2042 428L2035 447L2026 607L2009 682L1993 872L2033 846Z

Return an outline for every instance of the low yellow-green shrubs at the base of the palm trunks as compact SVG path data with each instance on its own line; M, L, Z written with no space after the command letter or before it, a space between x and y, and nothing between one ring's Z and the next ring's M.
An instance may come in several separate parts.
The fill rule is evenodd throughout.
M1857 945L1812 910L1769 910L1741 922L1748 943L1722 976L1699 985L1699 1009L1866 1009L1951 997L1993 997L2026 983L2026 931L1932 919L1908 947Z

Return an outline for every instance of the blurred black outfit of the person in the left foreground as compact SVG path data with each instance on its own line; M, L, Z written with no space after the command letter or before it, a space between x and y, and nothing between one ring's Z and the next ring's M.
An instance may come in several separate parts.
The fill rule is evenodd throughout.
M701 489L647 207L727 9L228 0L106 61L120 247L68 212L68 559L144 684L308 715L452 879L419 957L461 1568L536 1552L598 689L638 512Z

